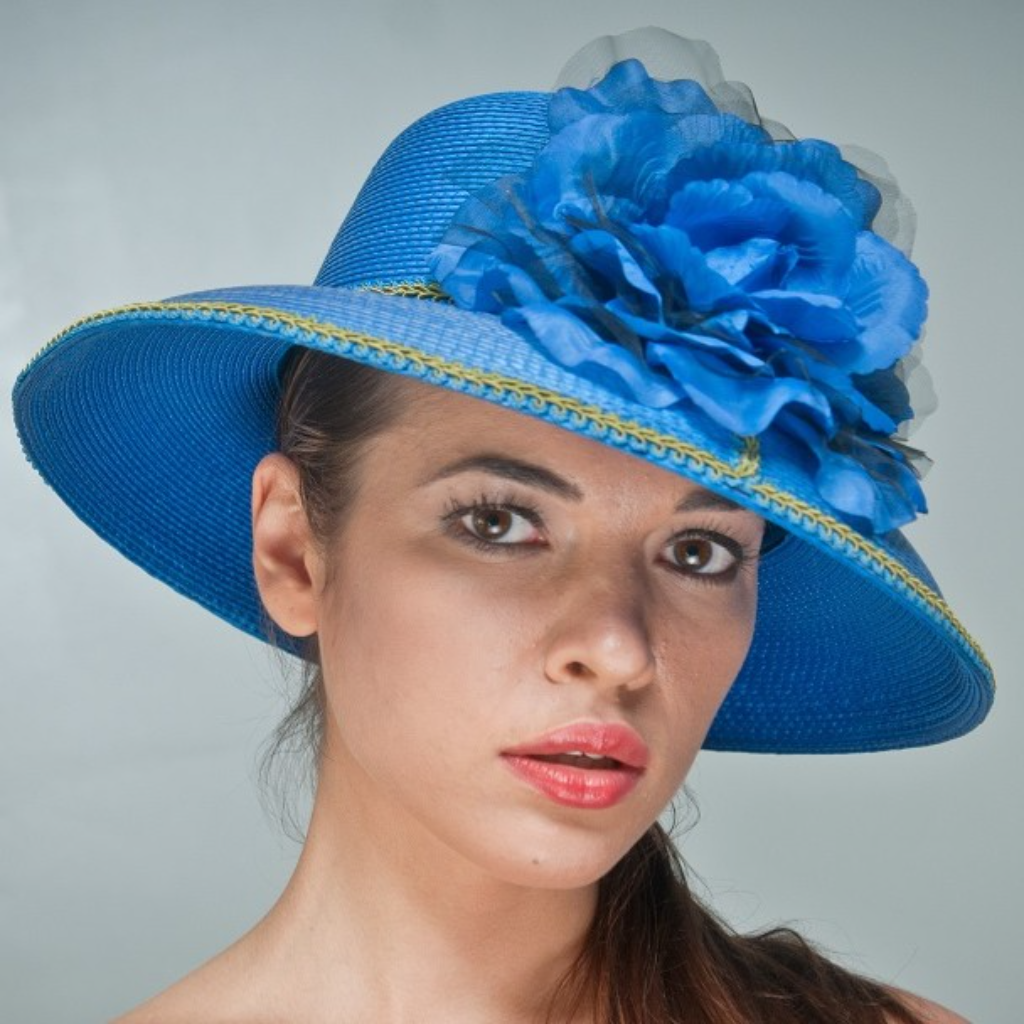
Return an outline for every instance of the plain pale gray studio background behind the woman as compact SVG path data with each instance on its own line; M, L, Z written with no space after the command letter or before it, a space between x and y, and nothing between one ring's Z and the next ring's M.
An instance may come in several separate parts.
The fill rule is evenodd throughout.
M1020 1019L1024 4L0 0L0 395L75 317L307 283L371 164L462 95L546 88L596 35L708 39L802 136L883 154L933 298L933 514L910 539L987 649L976 733L873 756L708 754L684 852L728 918L797 923L977 1021ZM65 509L0 430L0 1019L97 1021L223 948L297 847L253 765L264 648Z

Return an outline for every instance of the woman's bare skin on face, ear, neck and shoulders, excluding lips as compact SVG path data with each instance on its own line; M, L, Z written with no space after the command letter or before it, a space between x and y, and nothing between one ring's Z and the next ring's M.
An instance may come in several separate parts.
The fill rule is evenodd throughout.
M269 913L123 1024L536 1019L580 947L597 880L672 800L742 665L757 515L677 511L708 493L518 413L406 388L326 548L294 466L274 454L256 469L262 599L321 645L312 818ZM432 479L479 455L540 466L577 494L494 469ZM466 511L481 496L530 518ZM501 756L580 721L626 723L649 750L610 808L557 804Z

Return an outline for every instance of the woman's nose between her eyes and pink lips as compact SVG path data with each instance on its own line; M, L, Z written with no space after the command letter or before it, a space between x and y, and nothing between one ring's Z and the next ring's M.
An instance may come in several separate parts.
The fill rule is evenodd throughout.
M647 686L655 659L639 588L623 579L592 578L567 589L565 597L548 632L548 679L586 681L624 692Z

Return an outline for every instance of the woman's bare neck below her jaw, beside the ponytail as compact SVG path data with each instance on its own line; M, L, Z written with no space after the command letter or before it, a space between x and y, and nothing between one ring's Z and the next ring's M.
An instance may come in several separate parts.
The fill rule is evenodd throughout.
M545 1019L579 953L596 884L531 889L487 873L350 784L325 759L302 854L242 940L250 977L309 1022ZM263 987L262 985L260 986ZM287 1004L287 1006L286 1006Z

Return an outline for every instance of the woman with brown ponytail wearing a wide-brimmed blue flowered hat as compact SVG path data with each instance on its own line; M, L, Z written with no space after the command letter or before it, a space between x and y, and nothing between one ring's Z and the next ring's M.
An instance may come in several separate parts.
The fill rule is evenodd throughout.
M991 699L898 532L905 221L682 48L702 85L615 60L434 112L312 288L101 313L23 374L69 504L313 667L291 884L124 1020L958 1019L730 935L656 825L701 745L938 741Z

